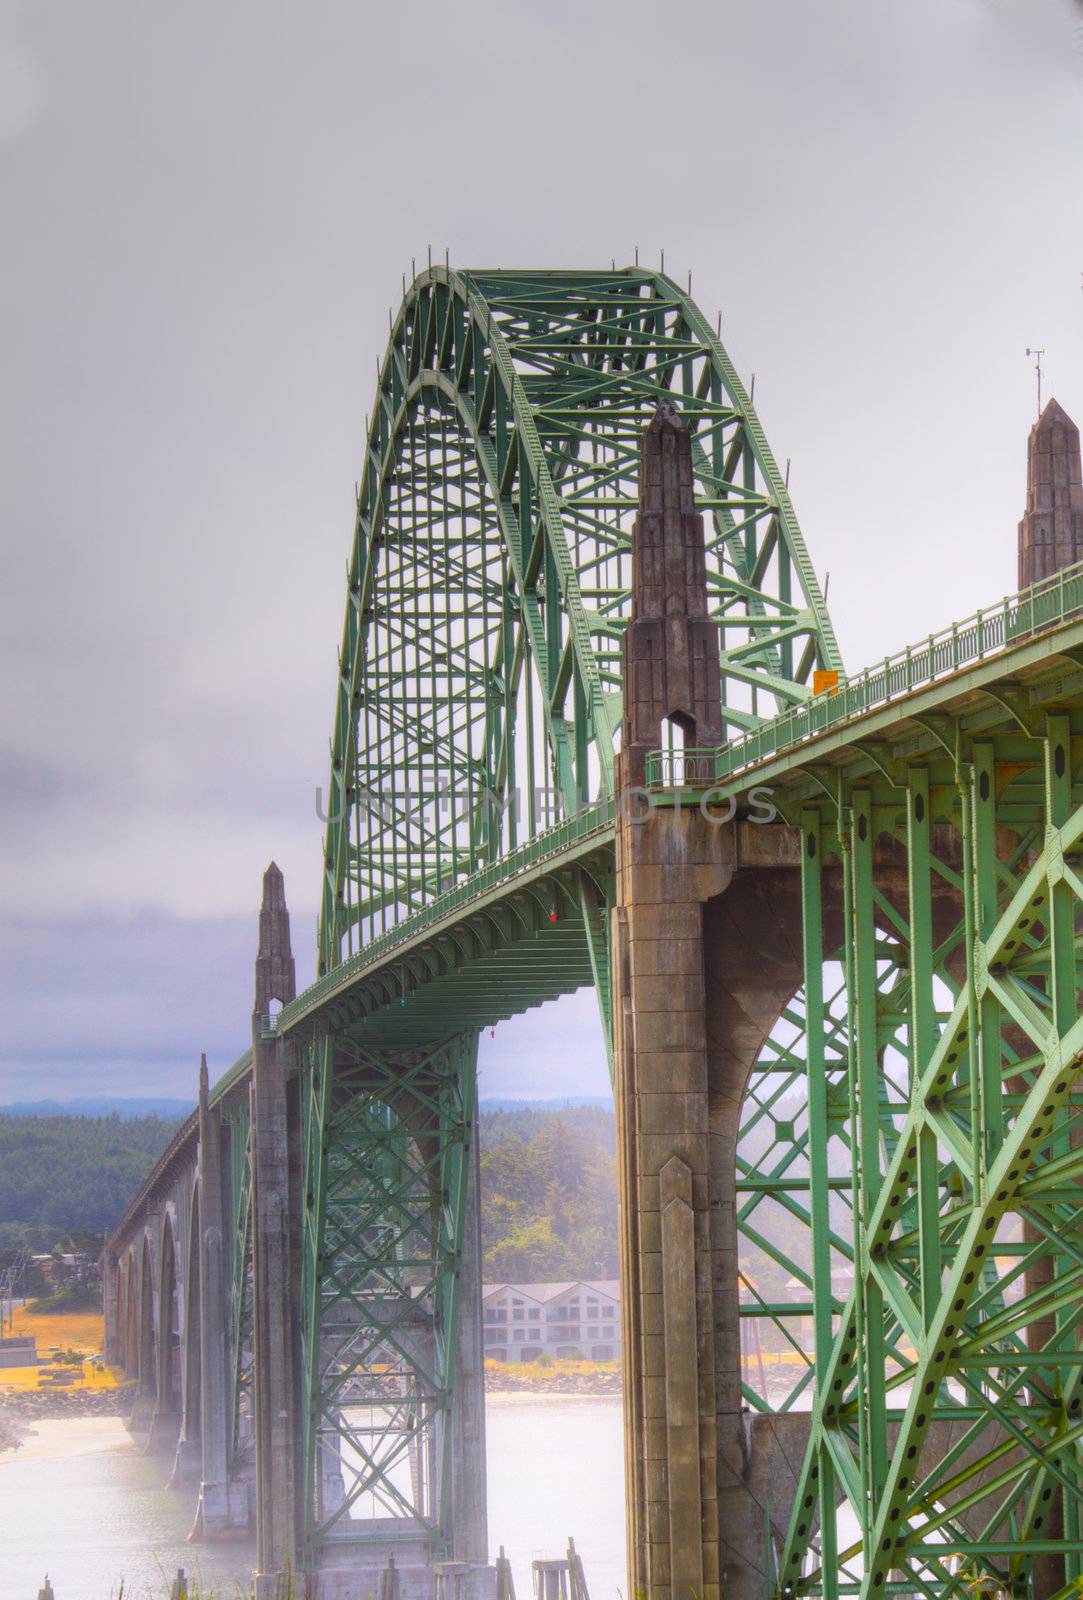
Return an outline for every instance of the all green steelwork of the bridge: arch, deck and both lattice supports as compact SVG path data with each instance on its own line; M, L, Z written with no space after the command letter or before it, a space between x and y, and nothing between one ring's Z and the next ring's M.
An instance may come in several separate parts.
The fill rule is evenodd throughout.
M1019 674L1041 664L1021 643L1038 611L1064 627L1083 590L1006 600L813 699L813 670L840 661L785 485L702 315L640 269L430 269L379 368L320 976L280 1021L304 1053L306 1558L362 1507L453 1546L477 1027L590 976L608 1019L621 635L661 398L693 435L707 526L717 792L755 770L803 842L803 982L752 1069L737 1149L744 1259L795 1285L749 1275L742 1317L798 1357L784 1386L749 1374L744 1398L809 1413L789 1530L766 1541L771 1594L1067 1600L1083 672L1033 691ZM653 773L677 776L664 755Z

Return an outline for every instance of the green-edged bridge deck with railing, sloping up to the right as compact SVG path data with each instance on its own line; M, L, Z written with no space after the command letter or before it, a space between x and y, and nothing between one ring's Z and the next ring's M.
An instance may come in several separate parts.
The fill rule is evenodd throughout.
M731 797L768 789L781 816L790 818L809 792L811 768L846 770L851 778L869 771L869 741L883 747L888 763L896 746L907 758L934 749L937 739L923 726L925 717L947 715L969 736L1011 726L1016 712L1006 707L1021 693L1029 707L1040 707L1045 699L1059 699L1077 678L1083 686L1075 656L1083 646L1081 611L1083 573L1062 571L1035 594L1009 595L875 662L840 693L777 718L779 726L769 723L721 752L712 750L710 771L697 773L693 782L675 784L673 763L691 766L697 752L659 752L648 773L649 789L627 802L629 816L673 805L704 805L725 814ZM745 859L757 859L760 835L752 829L760 826L737 821ZM598 974L579 917L579 874L605 894L614 845L616 802L584 806L309 984L282 1013L266 1018L264 1030L286 1035L330 1024L358 1029L368 1043L419 1046L434 1029L459 1034L493 1027L593 984ZM761 848L774 845L765 840ZM517 986L523 971L526 979ZM211 1086L211 1104L250 1074L246 1050ZM194 1136L192 1117L170 1149L182 1149Z

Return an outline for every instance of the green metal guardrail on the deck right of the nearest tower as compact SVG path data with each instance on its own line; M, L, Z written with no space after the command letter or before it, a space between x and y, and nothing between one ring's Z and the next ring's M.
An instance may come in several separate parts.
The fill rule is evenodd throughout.
M1057 627L1078 611L1083 611L1083 562L1064 566L1053 578L1006 595L998 605L974 611L963 622L952 622L917 645L907 645L837 690L773 717L729 744L713 750L651 750L646 782L649 787L723 782L769 755Z

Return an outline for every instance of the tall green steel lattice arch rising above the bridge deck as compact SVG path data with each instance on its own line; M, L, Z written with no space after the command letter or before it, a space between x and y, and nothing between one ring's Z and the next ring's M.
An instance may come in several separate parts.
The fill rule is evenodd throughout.
M840 667L782 477L688 294L638 267L422 272L358 486L322 974L613 794L637 450L661 398L693 432L728 731Z

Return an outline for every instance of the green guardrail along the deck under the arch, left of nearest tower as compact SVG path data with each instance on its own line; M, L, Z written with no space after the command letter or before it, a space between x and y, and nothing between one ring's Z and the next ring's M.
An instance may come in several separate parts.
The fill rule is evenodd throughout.
M557 822L555 827L547 829L544 834L538 834L526 845L520 845L518 850L510 851L510 854L490 862L488 867L472 872L464 883L456 885L453 890L445 890L443 894L437 894L435 899L414 912L413 917L405 917L403 922L389 928L387 933L381 933L378 939L366 944L357 955L350 955L341 966L334 966L323 978L317 978L304 994L299 994L296 1000L283 1006L275 1018L264 1018L266 1032L286 1032L314 1005L346 989L360 973L370 966L378 966L400 946L410 944L419 934L448 920L472 901L482 899L490 890L502 888L541 862L560 856L569 845L577 845L595 834L603 835L611 822L613 802L598 800L593 805L584 806L574 816L565 818L563 822Z

